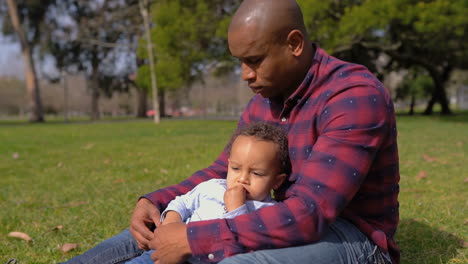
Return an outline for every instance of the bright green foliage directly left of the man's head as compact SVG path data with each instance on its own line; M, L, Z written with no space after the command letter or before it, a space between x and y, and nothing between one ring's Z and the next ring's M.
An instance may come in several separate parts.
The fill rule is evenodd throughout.
M151 38L155 50L158 89L174 90L216 68L227 55L227 25L229 15L238 1L159 1L152 5L154 26ZM145 40L137 51L147 58ZM140 66L137 83L149 90L150 76L146 66Z

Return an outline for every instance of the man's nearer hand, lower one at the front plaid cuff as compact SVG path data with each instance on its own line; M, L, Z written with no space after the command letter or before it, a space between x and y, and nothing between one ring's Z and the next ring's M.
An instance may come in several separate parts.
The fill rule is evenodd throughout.
M156 264L184 263L192 255L187 239L187 225L170 223L159 226L154 230L150 247L156 250L151 254Z

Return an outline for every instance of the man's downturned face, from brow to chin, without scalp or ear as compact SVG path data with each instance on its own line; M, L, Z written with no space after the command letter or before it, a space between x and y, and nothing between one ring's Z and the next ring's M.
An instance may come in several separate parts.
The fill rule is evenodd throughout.
M292 88L288 78L290 56L288 45L278 43L267 33L258 32L254 26L228 33L229 49L239 59L242 79L250 89L265 98L289 96Z

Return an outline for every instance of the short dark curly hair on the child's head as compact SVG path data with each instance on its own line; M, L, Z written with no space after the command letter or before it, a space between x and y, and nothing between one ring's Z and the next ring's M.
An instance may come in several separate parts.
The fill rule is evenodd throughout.
M251 136L258 140L273 142L278 145L277 158L281 164L281 172L291 173L291 161L288 152L288 137L280 127L270 125L265 122L255 122L242 127L234 133L228 145L228 154L231 153L231 147L238 136Z

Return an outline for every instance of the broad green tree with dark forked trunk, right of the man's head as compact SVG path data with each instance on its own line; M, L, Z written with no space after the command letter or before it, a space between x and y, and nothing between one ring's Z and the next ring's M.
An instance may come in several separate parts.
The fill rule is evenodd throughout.
M365 48L377 60L390 56L387 68L424 68L434 84L425 113L439 103L450 114L445 91L455 68L468 65L468 5L465 0L298 1L309 30L332 52ZM320 20L320 22L317 22Z

